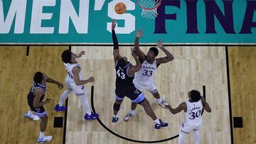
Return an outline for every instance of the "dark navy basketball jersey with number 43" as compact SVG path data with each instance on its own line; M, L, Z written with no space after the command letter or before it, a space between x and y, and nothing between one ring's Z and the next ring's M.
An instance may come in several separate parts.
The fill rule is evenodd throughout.
M121 67L119 65L119 62L117 62L117 65L115 66L115 70L116 70L116 75L117 75L117 79L116 79L116 87L131 87L133 86L133 79L134 79L134 75L133 76L129 76L128 74L128 70L129 67L132 64L130 62L127 62L127 65L125 67Z

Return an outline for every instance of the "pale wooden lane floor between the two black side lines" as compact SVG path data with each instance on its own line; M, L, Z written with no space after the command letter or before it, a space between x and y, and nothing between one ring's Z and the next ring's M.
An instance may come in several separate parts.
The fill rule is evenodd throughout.
M148 48L142 48L147 52ZM228 108L228 84L225 47L167 47L175 59L161 65L156 71L155 79L159 92L172 106L186 101L187 92L206 86L206 96L212 113L204 113L201 127L201 143L230 143L230 117ZM73 52L85 50L85 57L80 59L84 77L95 77L93 102L95 111L100 113L100 121L112 132L125 138L141 141L157 141L174 137L178 134L184 113L172 115L166 109L154 104L153 96L146 92L146 97L154 109L156 116L169 123L169 128L154 130L154 122L141 106L137 108L137 116L124 122L129 113L130 102L125 99L119 111L119 123L112 124L112 105L114 103L114 62L112 47L73 47ZM121 48L122 55L132 60L129 47ZM160 52L159 57L164 53ZM132 60L134 63L134 60ZM87 85L90 93L92 84ZM83 121L80 99L70 96L68 101L68 121L66 143L131 143L122 140L102 128L97 121ZM192 143L193 135L188 135L188 143ZM177 143L178 139L164 143Z

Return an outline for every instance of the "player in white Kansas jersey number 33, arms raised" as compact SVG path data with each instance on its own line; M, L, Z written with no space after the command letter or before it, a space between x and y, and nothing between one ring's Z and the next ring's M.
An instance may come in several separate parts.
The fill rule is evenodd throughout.
M136 55L139 57L140 62L142 63L142 69L139 70L135 74L134 77L134 85L140 91L146 90L150 92L154 98L156 103L160 104L161 106L165 107L168 103L160 97L160 94L156 88L156 84L154 82L154 73L156 72L157 67L162 63L170 62L174 60L174 56L164 48L163 43L161 40L158 41L157 47L164 51L166 57L156 58L159 54L159 50L156 47L151 47L147 54L145 55L142 50L139 49L139 38L142 38L142 31L137 31L137 35L134 42L134 50ZM137 104L132 103L130 113L125 116L124 121L128 121L136 114Z

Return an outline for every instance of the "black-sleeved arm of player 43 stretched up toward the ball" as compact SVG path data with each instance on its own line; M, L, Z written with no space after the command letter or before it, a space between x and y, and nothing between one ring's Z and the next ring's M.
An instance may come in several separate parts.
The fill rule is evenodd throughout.
M114 44L114 51L113 51L113 55L114 55L114 63L116 63L119 58L121 57L120 53L119 53L119 45L118 45L118 41L117 41L117 35L114 32L114 28L117 25L117 23L115 22L115 19L112 20L112 40L113 40L113 44Z

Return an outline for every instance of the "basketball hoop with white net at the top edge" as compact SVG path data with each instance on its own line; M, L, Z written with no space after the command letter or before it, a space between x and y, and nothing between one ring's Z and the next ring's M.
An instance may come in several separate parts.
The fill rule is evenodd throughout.
M157 8L161 5L161 0L137 0L139 7L142 8L143 18L156 18Z

